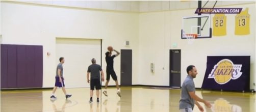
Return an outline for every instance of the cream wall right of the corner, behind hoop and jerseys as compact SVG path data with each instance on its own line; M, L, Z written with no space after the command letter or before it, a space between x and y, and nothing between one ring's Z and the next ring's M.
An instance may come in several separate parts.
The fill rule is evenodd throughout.
M195 16L195 9L141 13L139 17L139 80L144 85L169 86L169 49L181 49L181 83L187 76L188 65L197 67L195 87L201 88L208 55L250 55L250 89L255 89L255 3L222 6L225 8L249 8L250 34L235 35L235 15L227 16L227 35L208 39L196 39L188 45L181 39L182 17ZM147 41L143 41L147 40ZM173 47L172 43L177 43ZM155 74L148 69L155 63ZM165 69L163 69L165 68ZM144 71L143 71L144 70ZM144 78L147 77L147 78Z

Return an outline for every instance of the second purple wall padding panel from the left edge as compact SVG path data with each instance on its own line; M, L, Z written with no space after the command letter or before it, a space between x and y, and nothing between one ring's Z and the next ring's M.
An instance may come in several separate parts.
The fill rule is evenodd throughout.
M17 88L17 46L8 45L8 88Z

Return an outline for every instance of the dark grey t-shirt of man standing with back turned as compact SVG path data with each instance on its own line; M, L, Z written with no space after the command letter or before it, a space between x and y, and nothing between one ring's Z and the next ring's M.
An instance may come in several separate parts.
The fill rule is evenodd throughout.
M99 72L102 71L101 67L97 64L91 64L87 72L91 73L91 79L99 79Z

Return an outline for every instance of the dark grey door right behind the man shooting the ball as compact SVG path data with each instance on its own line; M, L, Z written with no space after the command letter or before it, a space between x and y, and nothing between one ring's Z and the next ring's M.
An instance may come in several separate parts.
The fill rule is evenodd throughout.
M132 86L132 50L121 49L121 86Z

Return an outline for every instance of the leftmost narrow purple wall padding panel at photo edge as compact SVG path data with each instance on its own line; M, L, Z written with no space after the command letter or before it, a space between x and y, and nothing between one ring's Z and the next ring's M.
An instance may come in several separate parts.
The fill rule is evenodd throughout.
M8 88L7 51L8 47L1 45L1 88Z

